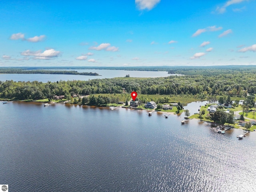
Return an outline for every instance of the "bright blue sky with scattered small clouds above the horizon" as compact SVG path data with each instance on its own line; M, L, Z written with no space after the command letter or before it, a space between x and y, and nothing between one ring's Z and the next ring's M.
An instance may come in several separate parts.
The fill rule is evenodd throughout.
M255 0L0 0L0 66L256 64Z

